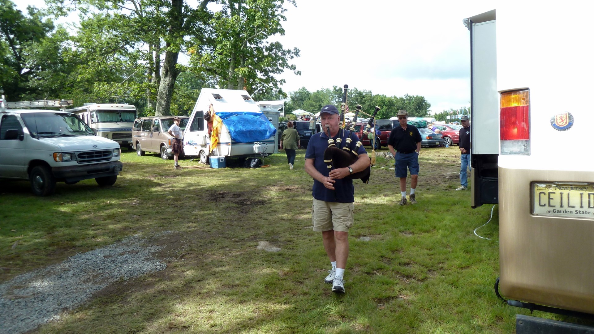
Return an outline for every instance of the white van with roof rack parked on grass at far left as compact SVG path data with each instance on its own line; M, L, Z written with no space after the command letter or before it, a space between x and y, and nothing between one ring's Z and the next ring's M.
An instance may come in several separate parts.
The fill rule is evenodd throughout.
M4 100L4 97L2 98ZM51 195L56 182L116 182L119 144L96 136L77 115L52 110L11 110L0 100L0 178L29 180L35 195Z

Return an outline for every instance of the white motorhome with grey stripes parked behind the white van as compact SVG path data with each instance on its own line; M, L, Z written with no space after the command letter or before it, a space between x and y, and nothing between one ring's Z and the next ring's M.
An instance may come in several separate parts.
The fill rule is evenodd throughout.
M136 119L136 107L123 103L85 103L82 107L68 109L75 113L97 136L112 139L121 147L132 148L132 125Z

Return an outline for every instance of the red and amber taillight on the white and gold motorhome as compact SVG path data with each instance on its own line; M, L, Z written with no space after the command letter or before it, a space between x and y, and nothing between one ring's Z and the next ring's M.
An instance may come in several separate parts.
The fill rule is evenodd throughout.
M529 91L508 91L500 98L501 154L530 154Z

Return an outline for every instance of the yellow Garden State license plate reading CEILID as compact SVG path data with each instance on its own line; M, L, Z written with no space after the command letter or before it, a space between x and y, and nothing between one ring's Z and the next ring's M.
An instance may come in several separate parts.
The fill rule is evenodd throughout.
M533 183L533 214L594 218L594 183Z

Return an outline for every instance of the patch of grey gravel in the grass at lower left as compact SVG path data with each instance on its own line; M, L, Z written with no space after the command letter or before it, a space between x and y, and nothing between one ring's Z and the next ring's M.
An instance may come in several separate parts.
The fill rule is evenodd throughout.
M164 270L165 263L153 256L160 249L132 236L0 284L0 334L34 329L113 282Z

